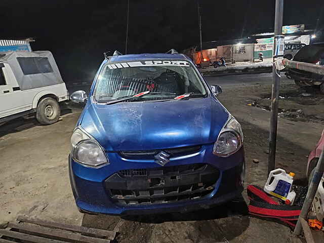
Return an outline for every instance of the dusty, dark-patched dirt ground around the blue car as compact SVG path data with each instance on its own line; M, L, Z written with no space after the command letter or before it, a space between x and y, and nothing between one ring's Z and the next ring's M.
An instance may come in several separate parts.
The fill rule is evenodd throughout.
M271 74L207 77L207 81L222 86L219 100L244 130L246 186L263 186L267 177L270 112L258 104L271 95ZM324 96L316 90L311 91L311 97L300 96L306 91L287 78L281 78L280 89L280 94L297 94L287 96L291 101L285 104L287 110L300 103L306 113L315 106L324 106ZM280 100L279 106L281 103ZM245 201L186 214L122 218L80 214L69 185L67 155L81 109L72 107L64 112L63 120L50 126L39 126L35 119L18 119L0 127L0 224L26 214L105 229L114 229L118 223L117 242L275 242L278 238L291 242L287 226L250 217ZM296 183L305 185L307 155L319 139L323 121L316 115L304 118L279 117L276 166L295 172ZM259 159L259 164L253 163L254 158ZM247 201L245 193L244 196Z

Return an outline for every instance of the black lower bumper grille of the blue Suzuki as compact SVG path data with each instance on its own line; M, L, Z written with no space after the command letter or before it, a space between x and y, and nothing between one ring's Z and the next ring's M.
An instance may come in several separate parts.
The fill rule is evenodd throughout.
M119 171L105 181L105 187L116 204L165 204L206 196L218 178L213 166L191 164Z

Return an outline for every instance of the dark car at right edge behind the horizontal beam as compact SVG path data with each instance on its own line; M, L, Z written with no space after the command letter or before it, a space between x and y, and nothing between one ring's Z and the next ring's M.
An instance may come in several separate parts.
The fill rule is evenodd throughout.
M324 64L324 44L312 44L304 46L293 58L294 61L308 62L318 65ZM320 88L320 92L324 94L324 75L288 68L285 73L288 78L294 79L298 86L315 86Z

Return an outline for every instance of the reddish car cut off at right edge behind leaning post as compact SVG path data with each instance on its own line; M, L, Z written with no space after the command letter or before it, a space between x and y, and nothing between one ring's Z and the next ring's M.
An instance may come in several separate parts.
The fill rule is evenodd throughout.
M316 144L314 150L312 150L308 156L308 164L307 164L307 178L310 180L313 175L314 168L317 165L318 158L320 153L324 148L324 130L322 131L321 137ZM313 204L312 204L312 211L316 215L317 220L324 222L324 175L321 178L319 183L318 189L316 191Z

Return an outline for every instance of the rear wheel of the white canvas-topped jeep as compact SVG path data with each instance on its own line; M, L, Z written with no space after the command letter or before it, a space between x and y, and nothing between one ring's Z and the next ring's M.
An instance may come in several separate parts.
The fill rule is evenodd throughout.
M61 114L58 102L50 97L46 97L38 102L36 119L42 125L50 125L59 120Z

